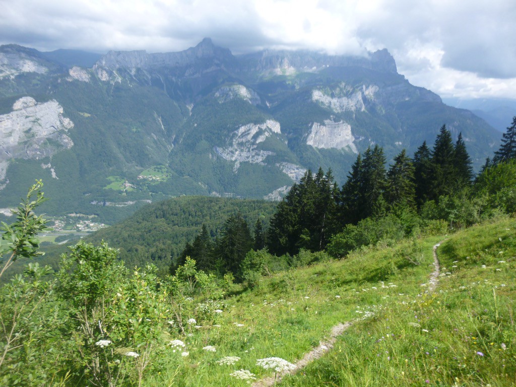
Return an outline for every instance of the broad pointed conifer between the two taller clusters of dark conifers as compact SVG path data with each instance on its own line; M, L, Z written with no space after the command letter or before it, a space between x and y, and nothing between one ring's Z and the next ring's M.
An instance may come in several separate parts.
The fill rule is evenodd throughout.
M391 205L415 205L414 166L405 149L394 157L387 172L386 199Z

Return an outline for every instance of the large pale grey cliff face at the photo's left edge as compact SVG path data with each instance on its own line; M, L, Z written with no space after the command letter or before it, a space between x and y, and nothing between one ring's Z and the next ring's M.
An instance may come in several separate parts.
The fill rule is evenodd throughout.
M73 122L63 116L56 100L37 103L25 96L13 104L12 110L0 116L0 181L12 158L40 159L73 146L66 134Z

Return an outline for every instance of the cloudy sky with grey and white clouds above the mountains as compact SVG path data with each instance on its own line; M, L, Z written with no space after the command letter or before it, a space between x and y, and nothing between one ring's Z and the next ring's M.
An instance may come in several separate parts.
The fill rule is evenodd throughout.
M0 0L0 44L185 50L204 37L263 48L362 55L443 97L516 99L514 0Z

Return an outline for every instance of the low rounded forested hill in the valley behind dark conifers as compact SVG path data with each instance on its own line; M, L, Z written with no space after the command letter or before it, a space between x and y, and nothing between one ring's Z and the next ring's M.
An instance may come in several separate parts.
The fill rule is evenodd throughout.
M241 213L252 228L257 219L268 223L276 211L275 202L188 196L148 204L124 221L99 230L84 238L99 245L102 240L120 250L119 257L127 267L156 265L167 272L171 260L176 260L185 244L192 241L206 225L212 237L219 236L224 221ZM64 239L65 237L61 237ZM66 240L66 239L65 239ZM38 258L40 265L58 267L59 255L69 251L67 245L45 245L46 254ZM25 262L17 262L11 272L20 272Z

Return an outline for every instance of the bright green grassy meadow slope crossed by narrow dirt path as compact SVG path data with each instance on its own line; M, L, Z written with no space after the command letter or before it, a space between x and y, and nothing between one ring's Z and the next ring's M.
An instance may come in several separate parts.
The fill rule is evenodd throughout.
M230 373L270 376L257 359L295 362L344 321L354 323L335 347L281 385L514 385L515 226L513 219L498 220L264 278L225 300L214 321L220 327L173 335L189 356L162 353L166 366L149 373L146 385L248 385ZM432 246L444 238L440 282L427 295ZM203 351L207 345L217 351ZM225 356L240 360L216 363Z

